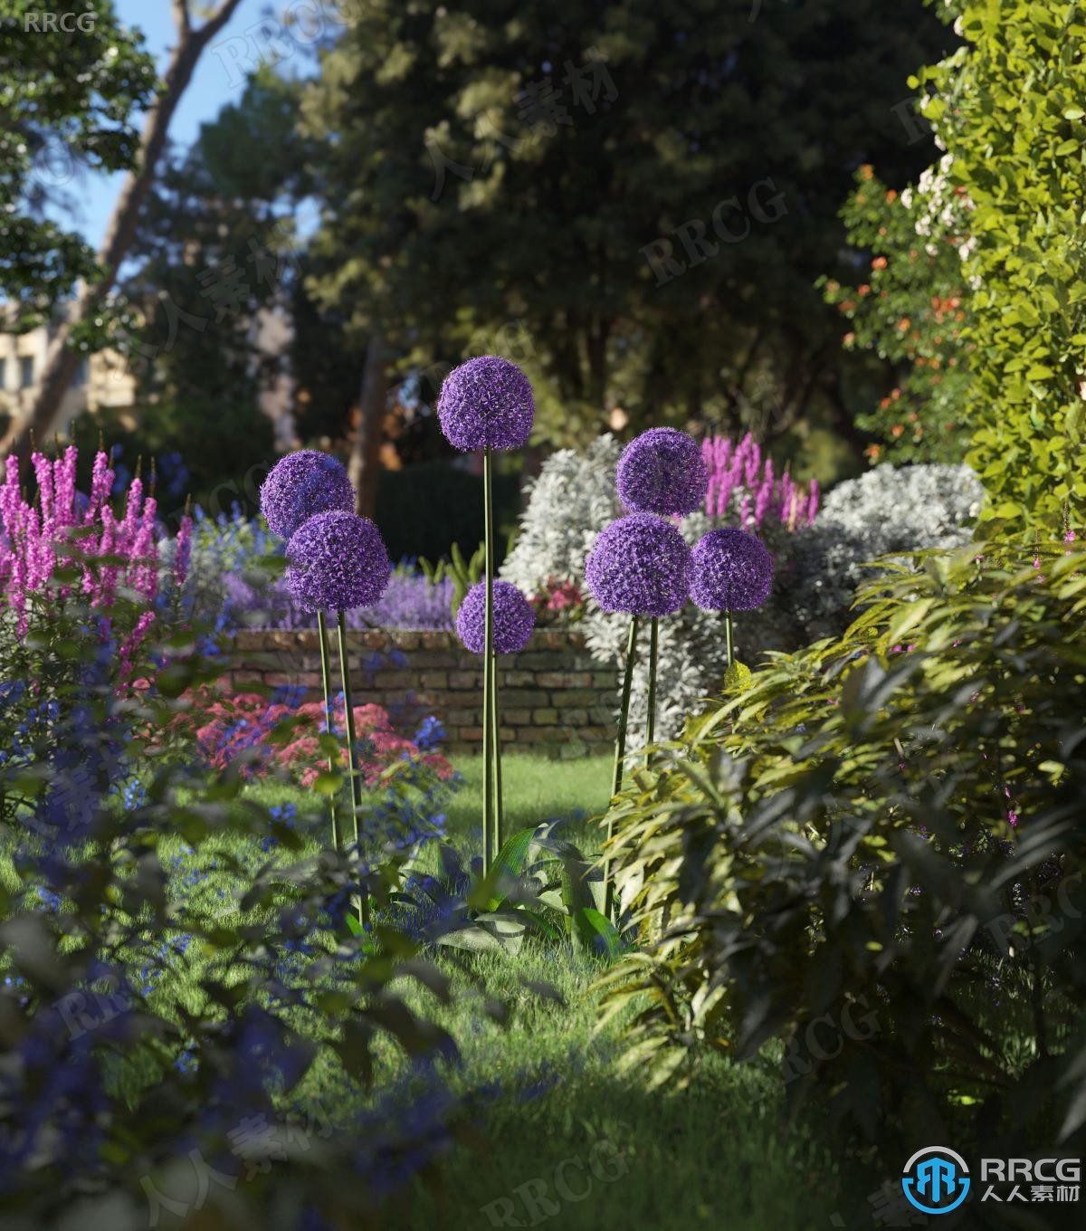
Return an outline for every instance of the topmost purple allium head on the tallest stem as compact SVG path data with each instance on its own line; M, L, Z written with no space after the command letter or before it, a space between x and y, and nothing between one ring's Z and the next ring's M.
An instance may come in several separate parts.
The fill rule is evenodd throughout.
M444 378L437 417L456 449L518 449L536 419L532 384L516 363L497 355L468 359Z

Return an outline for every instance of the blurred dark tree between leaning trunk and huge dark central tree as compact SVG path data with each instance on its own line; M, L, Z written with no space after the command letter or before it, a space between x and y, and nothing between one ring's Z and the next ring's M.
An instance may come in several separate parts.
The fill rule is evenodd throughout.
M182 449L193 491L208 499L222 485L219 505L241 478L235 459L271 463L272 422L260 395L293 377L293 214L309 182L296 118L297 87L261 71L188 151L167 158L122 284L133 329L115 330L113 341L137 373L133 446ZM273 314L286 341L268 345ZM111 425L111 439L118 435Z

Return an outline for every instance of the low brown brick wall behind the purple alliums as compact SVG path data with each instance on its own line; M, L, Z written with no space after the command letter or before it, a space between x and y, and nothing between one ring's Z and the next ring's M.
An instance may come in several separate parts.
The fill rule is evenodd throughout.
M479 751L481 659L454 634L368 629L348 633L347 648L355 704L383 705L404 735L435 714L448 732L447 751ZM239 633L235 651L236 687L259 680L270 687L300 686L307 700L320 699L315 632ZM526 650L499 660L499 671L504 747L573 757L613 746L616 675L592 659L576 634L537 630ZM335 646L332 673L339 688Z

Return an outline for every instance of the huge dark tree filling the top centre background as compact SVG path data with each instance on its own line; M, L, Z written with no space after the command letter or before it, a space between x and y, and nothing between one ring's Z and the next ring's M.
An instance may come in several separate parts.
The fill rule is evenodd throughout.
M904 183L930 158L895 111L949 37L919 2L350 12L304 103L324 142L315 292L379 329L395 371L512 327L548 443L616 405L861 442L813 283L856 166Z

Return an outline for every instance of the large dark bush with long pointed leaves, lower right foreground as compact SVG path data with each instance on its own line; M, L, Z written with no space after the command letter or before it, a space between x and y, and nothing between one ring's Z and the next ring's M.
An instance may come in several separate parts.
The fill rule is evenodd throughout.
M644 952L629 1060L783 1040L815 1092L901 1147L1086 1121L1086 553L922 553L841 638L693 720L614 806Z

